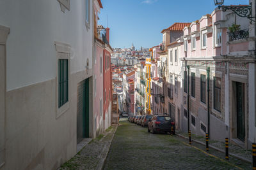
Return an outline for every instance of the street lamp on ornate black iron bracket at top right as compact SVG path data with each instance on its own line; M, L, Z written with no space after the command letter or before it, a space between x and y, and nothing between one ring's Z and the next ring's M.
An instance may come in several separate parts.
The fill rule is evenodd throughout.
M223 5L224 0L214 0L214 4L216 6L218 6L218 8L222 11L227 11L227 10L231 10L234 11L234 13L236 13L236 15L238 15L239 17L243 17L243 18L248 18L249 20L251 20L251 22L255 22L255 20L253 20L252 18L252 3L250 3L250 5L230 5L230 6L226 6Z

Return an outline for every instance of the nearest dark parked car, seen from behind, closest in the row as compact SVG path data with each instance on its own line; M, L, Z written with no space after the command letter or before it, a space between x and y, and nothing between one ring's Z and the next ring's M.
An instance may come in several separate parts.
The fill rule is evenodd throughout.
M172 117L154 115L148 122L148 132L153 134L156 132L171 132L173 127L173 134L175 134L175 122Z

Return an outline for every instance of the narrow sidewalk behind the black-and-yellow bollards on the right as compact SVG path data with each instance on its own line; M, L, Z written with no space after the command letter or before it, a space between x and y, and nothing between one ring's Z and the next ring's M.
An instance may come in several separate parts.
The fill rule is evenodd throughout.
M182 138L188 139L188 133L185 132L176 132L176 134ZM191 134L191 140L199 143L201 145L205 145L205 137L204 136L198 136L195 134ZM220 152L225 153L225 139L224 141L214 141L209 139L209 148L213 148L215 150L218 150ZM244 160L246 162L252 163L252 151L245 150L244 148L241 148L240 146L234 145L232 143L228 143L228 152L230 156L236 157L237 159Z

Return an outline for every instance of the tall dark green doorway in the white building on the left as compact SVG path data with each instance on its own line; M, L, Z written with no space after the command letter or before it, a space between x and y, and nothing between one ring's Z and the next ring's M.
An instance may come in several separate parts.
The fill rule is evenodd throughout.
M89 80L77 85L77 143L89 138Z

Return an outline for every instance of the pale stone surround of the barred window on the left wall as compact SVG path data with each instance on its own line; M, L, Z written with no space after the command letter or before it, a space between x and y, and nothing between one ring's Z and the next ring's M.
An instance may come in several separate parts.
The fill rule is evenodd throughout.
M58 41L54 41L54 45L56 47L57 52L57 62L56 62L56 118L60 117L65 111L67 111L70 108L70 52L71 52L71 46L67 45L65 43L60 43ZM65 103L60 108L58 107L58 97L59 97L59 66L58 66L58 60L59 59L68 59L68 102Z

